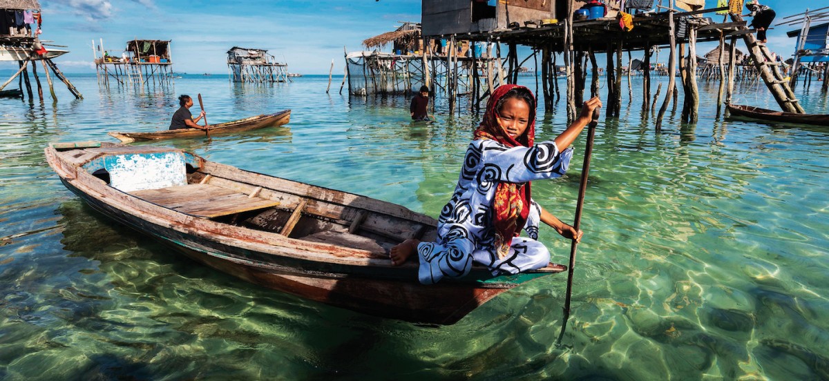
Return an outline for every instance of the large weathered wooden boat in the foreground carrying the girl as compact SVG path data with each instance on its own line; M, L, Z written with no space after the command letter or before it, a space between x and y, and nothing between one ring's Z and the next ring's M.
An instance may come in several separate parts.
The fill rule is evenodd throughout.
M403 206L206 161L175 148L53 143L46 160L95 210L245 281L373 316L452 324L492 297L565 271L422 285L416 256L391 265L405 239L436 221Z

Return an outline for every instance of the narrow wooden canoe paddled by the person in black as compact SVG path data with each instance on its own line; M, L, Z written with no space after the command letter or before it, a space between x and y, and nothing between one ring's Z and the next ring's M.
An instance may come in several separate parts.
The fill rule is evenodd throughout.
M210 128L210 134L240 133L242 131L255 130L257 128L281 126L291 120L291 110L280 111L257 115L255 117L214 124ZM109 133L109 136L118 138L121 142L135 142L158 139L172 139L177 137L206 137L205 130L199 128L180 128L177 130L155 131L153 133Z

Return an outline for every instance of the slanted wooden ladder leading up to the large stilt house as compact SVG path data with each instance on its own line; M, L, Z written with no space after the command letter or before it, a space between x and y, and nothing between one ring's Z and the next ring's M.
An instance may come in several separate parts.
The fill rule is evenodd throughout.
M739 14L730 13L730 17L734 22L743 22L743 17ZM739 27L739 30L743 32L745 46L749 49L749 53L754 59L754 67L757 68L768 90L771 91L774 99L777 100L780 109L788 113L806 113L794 97L794 92L789 87L788 80L783 78L779 65L772 59L768 48L758 44L757 37L754 36L754 33L745 32L749 30L749 27L742 25Z

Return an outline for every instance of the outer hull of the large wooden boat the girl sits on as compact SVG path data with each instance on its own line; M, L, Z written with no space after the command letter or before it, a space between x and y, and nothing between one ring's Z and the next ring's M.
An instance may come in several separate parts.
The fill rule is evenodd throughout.
M357 258L356 261L340 261L337 258L360 253L351 248L302 239L257 242L259 238L254 234L235 234L234 227L223 227L209 219L195 219L191 215L159 209L162 207L135 199L88 173L73 172L73 168L79 167L77 162L72 162L75 160L72 157L77 155L61 160L47 149L46 157L66 188L93 209L139 233L158 239L188 258L259 286L367 315L429 324L453 324L502 292L565 270L559 267L555 271L492 277L486 268L476 267L468 277L422 285L417 281L418 264L414 261L394 267L390 266L385 255L372 256L367 253L363 254L366 258ZM221 175L219 171L214 173ZM350 197L353 196L342 194L325 198L342 200L347 205L367 202L352 200ZM399 210L395 213L400 215ZM427 224L434 221L425 216L419 217L419 220ZM327 252L330 257L315 257L313 253L317 252Z

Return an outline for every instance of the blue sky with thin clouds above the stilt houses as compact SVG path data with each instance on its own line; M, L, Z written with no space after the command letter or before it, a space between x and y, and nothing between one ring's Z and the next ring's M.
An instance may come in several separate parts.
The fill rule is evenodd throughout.
M715 7L715 0L706 1L706 7ZM777 12L775 22L806 7L829 6L827 0L762 3ZM98 44L103 38L104 48L120 55L126 41L143 38L172 40L173 70L191 74L226 73L225 52L242 46L267 49L277 60L287 62L289 71L303 74L327 74L334 60L334 73L342 75L343 46L358 51L368 37L392 31L402 21L420 21L420 0L41 0L41 7L41 38L69 46L71 51L56 59L67 73L94 71L93 39ZM794 51L794 39L785 36L791 29L795 27L769 31L768 46L784 57ZM744 51L742 45L738 48ZM704 44L698 53L714 47ZM660 60L667 60L667 53Z

